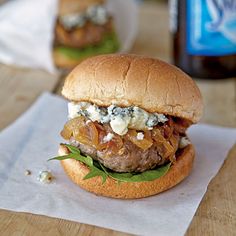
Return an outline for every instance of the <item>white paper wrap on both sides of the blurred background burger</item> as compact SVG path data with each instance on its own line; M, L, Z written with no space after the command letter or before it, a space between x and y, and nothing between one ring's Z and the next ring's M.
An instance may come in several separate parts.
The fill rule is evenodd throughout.
M0 6L0 62L55 72L52 45L58 0L14 0ZM131 49L138 31L134 0L108 0L121 43Z

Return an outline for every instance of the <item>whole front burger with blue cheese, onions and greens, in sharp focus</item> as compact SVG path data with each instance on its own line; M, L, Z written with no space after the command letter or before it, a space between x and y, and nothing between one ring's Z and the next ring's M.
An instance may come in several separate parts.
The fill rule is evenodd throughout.
M186 136L203 102L195 82L161 60L100 55L66 78L69 100L53 159L81 188L112 198L143 198L165 191L192 169L194 147Z

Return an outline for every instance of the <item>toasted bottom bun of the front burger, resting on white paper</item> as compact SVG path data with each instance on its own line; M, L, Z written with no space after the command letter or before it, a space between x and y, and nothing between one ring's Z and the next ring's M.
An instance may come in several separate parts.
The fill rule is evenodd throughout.
M64 145L60 145L59 155L66 154L68 154L68 149ZM153 181L122 182L120 184L110 177L105 183L102 183L100 176L83 180L84 176L89 173L89 169L79 161L66 159L61 161L61 164L69 178L89 192L112 198L134 199L158 194L181 182L192 169L194 154L193 146L188 145L177 158L176 163L161 178Z

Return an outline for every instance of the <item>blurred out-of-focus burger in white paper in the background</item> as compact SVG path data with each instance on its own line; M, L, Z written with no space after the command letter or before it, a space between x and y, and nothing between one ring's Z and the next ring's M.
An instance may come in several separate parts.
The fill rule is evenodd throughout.
M54 62L73 68L81 60L119 49L112 16L104 0L60 0L55 25Z

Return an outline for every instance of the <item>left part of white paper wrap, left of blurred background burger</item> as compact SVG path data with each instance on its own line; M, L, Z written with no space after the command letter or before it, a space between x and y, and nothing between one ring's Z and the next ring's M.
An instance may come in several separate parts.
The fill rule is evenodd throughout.
M57 0L15 0L0 7L0 61L54 72Z

